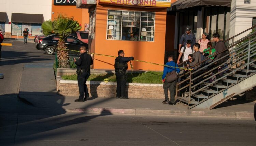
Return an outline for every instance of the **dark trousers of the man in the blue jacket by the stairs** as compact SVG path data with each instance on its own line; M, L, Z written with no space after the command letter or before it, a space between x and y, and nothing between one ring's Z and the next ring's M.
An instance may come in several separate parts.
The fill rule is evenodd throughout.
M174 103L175 99L174 99L174 94L175 94L175 89L176 89L176 80L168 83L167 81L165 81L165 83L163 83L163 92L165 93L165 99L168 100L168 89L170 91L170 102Z

